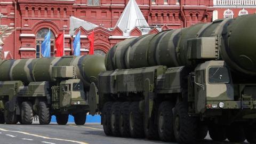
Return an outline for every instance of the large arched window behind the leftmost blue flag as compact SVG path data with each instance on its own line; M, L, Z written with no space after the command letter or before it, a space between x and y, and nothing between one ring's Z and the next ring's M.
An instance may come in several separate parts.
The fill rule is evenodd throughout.
M44 41L44 37L49 32L49 28L42 28L36 34L36 58L41 58L41 45ZM51 57L54 57L54 39L55 36L51 30Z

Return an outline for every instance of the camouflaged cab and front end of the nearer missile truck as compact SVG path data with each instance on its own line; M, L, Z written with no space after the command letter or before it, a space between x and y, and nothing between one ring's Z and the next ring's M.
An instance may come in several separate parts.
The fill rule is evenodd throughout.
M253 109L256 85L233 83L232 79L230 68L224 61L206 61L198 65L190 75L188 89L194 113L207 117L209 111L223 115L224 109ZM252 116L242 114L243 117L249 115Z

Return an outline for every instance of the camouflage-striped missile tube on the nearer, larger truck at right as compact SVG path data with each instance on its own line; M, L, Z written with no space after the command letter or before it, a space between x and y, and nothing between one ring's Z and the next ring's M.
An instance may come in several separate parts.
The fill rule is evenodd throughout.
M220 41L217 46L219 57L214 60L225 60L234 71L256 75L255 25L256 14L243 15L236 19L199 23L189 28L126 39L109 51L105 65L107 70L115 70L196 64L188 58L188 40L216 37Z

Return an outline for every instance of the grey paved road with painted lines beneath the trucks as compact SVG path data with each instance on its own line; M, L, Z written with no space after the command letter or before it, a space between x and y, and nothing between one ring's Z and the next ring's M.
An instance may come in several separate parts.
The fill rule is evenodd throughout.
M76 126L72 123L68 125L57 125L52 123L50 125L6 125L0 124L0 143L1 144L120 144L120 143L166 143L161 141L150 141L146 139L132 139L132 138L115 138L106 137L102 126L99 124L85 124L83 126ZM220 142L213 142L207 135L205 140L198 141L198 143L214 144ZM229 144L228 141L221 142Z

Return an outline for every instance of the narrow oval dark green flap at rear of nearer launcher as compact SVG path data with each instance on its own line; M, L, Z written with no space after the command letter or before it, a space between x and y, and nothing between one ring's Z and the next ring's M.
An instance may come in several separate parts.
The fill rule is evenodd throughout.
M95 115L97 112L97 106L99 103L99 95L98 95L98 89L95 85L95 83L91 83L90 85L90 91L89 91L89 107L90 107L90 115Z

